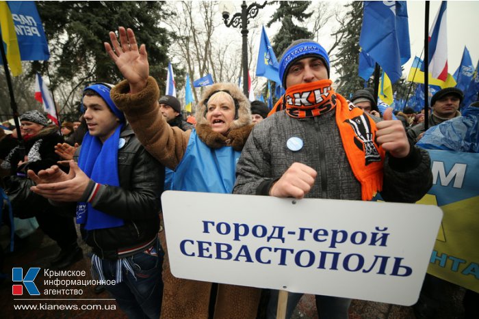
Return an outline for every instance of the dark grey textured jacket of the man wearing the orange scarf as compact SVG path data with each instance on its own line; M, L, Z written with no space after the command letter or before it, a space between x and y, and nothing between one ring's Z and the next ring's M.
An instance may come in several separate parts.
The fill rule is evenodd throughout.
M292 152L287 148L290 137L302 139L301 150ZM257 124L237 163L233 193L268 195L273 182L294 162L318 172L313 188L305 197L361 200L361 184L354 177L342 147L335 111L307 119L294 119L281 111ZM405 158L387 154L383 199L413 203L431 186L428 152L411 147Z

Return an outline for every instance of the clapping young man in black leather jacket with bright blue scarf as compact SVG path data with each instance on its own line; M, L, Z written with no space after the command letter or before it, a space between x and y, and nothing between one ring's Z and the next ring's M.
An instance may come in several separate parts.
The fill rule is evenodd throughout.
M140 144L110 98L110 85L86 87L88 133L70 161L28 174L32 190L55 204L76 202L77 223L92 247L92 271L129 318L159 318L163 283L159 197L164 167Z

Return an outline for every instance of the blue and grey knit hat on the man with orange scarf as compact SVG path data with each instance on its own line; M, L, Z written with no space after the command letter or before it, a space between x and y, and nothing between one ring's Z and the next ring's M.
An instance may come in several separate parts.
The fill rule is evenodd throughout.
M279 62L279 79L286 89L287 71L295 61L305 59L306 57L318 57L322 59L326 70L328 70L329 79L329 57L328 53L318 42L309 39L300 39L292 42L281 55Z

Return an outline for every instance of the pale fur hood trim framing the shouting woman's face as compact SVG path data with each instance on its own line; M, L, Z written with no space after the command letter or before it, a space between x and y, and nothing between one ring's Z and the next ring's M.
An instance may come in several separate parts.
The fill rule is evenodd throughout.
M231 95L235 101L236 115L235 120L231 122L230 129L234 130L235 128L240 128L242 126L251 124L251 111L250 111L250 101L246 96L244 96L241 89L236 84L233 83L215 83L205 89L203 96L201 96L200 102L196 105L196 125L207 124L209 122L206 120L206 104L211 98L211 96L217 92L224 91Z

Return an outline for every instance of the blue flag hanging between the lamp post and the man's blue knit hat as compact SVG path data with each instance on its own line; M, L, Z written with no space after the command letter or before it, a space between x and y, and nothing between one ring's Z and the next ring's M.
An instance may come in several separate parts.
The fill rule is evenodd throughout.
M261 31L261 42L259 44L258 61L256 66L257 77L266 77L281 85L278 72L279 64L274 55L273 47L270 44L266 31Z

